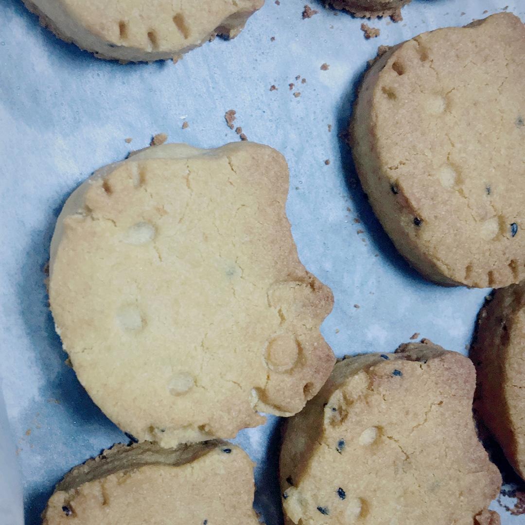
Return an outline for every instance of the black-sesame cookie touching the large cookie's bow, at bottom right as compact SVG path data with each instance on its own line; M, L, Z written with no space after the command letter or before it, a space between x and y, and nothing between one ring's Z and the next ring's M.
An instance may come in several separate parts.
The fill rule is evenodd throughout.
M423 340L338 362L286 424L287 523L495 525L501 476L472 421L474 366Z

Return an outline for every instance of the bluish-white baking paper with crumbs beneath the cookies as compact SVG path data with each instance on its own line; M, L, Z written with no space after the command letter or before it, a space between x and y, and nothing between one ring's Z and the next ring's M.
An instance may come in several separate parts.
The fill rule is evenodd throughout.
M439 287L409 269L355 183L338 133L345 130L356 82L377 46L465 25L506 4L414 0L403 9L403 22L368 22L381 29L371 40L364 39L362 20L323 9L316 0L311 6L319 14L302 19L303 5L267 0L233 41L217 39L176 65L123 66L57 40L19 0L0 2L0 374L16 443L15 456L0 418L0 509L12 509L12 517L2 516L0 523L20 523L17 478L2 455L17 460L25 519L33 524L71 467L127 442L64 364L42 270L68 194L98 167L148 145L153 133L166 132L172 142L219 146L238 140L224 121L225 111L234 109L235 124L249 140L286 156L288 217L302 262L334 292L335 307L322 332L338 356L392 351L416 332L466 352L487 290ZM508 10L525 19L525 0L514 0ZM328 70L321 70L323 63ZM272 85L277 89L270 91ZM183 130L184 121L189 127ZM124 142L128 137L131 144ZM264 427L237 439L257 461L256 508L267 525L282 523L278 425L269 417ZM507 473L506 479L516 478ZM6 486L13 492L2 490ZM493 508L504 524L525 522L497 503Z

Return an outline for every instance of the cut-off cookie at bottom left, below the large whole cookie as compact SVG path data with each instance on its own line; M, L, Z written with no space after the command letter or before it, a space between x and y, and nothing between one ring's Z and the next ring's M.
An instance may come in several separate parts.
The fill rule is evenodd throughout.
M57 485L43 525L257 525L253 464L240 448L116 445Z

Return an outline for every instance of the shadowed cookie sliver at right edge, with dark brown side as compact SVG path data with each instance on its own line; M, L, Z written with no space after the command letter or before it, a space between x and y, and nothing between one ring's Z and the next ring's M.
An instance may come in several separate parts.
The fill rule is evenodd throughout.
M471 359L477 369L474 407L525 479L525 284L497 290L480 311Z

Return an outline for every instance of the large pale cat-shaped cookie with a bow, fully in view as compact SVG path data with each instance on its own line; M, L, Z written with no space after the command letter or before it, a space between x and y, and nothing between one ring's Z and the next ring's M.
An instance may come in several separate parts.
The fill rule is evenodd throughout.
M145 149L67 200L49 300L78 379L139 440L232 438L300 411L335 358L330 289L299 261L268 146Z

